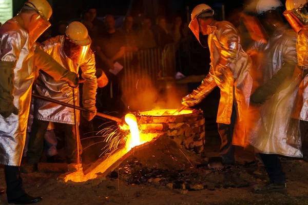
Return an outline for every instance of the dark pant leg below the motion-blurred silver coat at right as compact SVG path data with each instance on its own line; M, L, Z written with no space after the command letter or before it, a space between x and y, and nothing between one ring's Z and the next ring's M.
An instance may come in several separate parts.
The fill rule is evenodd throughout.
M277 154L262 154L260 156L265 165L266 172L272 183L282 185L285 183L285 173Z

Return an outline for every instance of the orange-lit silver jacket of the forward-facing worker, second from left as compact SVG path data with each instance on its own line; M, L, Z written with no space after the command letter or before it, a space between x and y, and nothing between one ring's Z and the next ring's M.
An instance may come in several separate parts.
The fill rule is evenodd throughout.
M56 36L43 43L43 49L51 55L59 64L71 72L78 73L82 70L85 79L83 86L82 103L84 108L95 111L95 96L97 91L97 77L95 77L95 58L90 50L84 62L80 65L74 63L63 51L64 35ZM73 89L66 81L58 81L47 73L40 71L36 80L35 92L55 100L73 105ZM79 89L74 88L75 105L79 106ZM63 124L74 124L74 110L65 106L49 103L48 101L34 100L34 118L60 122ZM79 111L76 110L76 119L79 121Z

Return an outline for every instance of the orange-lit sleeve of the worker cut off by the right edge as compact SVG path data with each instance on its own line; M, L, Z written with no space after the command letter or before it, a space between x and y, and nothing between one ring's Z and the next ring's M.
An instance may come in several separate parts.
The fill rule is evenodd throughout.
M297 35L297 67L302 70L308 69L308 31L302 29Z

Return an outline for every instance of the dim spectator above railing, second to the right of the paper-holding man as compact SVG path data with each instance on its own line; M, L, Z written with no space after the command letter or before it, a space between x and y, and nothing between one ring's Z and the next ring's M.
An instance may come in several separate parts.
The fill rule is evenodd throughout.
M137 45L139 49L149 49L157 47L155 36L152 31L152 21L149 17L144 17L142 28L137 33Z

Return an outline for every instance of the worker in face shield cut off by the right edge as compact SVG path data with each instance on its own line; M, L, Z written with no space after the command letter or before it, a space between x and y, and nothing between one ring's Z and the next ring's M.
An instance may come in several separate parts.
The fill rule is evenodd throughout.
M300 133L304 160L308 160L308 11L306 0L287 0L283 13L292 28L297 32L297 70L304 79L300 85L295 118L300 119Z

